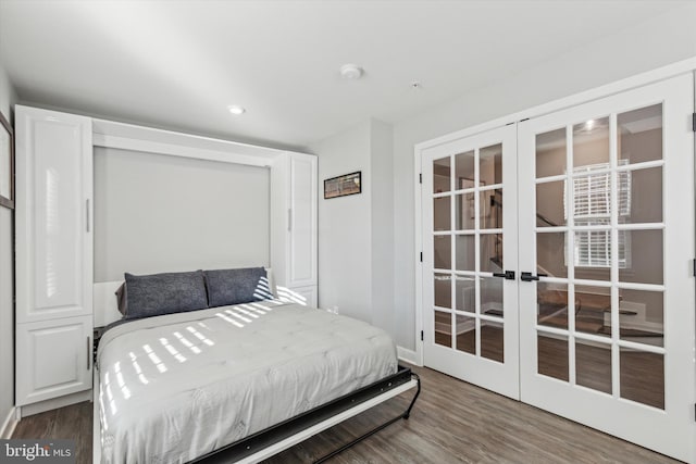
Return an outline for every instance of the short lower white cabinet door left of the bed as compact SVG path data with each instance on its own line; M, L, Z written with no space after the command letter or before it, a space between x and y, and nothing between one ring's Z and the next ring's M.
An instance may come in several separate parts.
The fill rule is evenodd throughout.
M17 325L16 404L91 388L91 316Z

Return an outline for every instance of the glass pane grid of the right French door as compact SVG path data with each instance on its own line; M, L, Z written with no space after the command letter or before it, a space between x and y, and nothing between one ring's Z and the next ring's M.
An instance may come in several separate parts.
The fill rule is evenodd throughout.
M538 134L536 163L537 373L663 409L661 104Z

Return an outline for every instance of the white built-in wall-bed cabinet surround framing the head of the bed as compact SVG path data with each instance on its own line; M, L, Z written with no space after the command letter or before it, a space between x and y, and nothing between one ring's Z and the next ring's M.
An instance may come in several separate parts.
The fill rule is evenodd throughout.
M73 393L91 388L94 321L120 316L107 312L114 283L94 278L95 146L270 167L278 296L316 305L316 156L22 105L15 120L17 406L79 401Z

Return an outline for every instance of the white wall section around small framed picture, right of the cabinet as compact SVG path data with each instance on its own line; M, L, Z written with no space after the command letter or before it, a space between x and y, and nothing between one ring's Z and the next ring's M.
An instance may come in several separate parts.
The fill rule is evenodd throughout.
M319 156L319 305L394 334L391 125L365 121L314 143ZM324 200L323 180L362 172L362 193Z

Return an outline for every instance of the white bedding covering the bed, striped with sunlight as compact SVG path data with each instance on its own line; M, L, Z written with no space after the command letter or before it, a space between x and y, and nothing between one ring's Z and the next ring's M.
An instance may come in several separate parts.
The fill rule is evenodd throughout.
M102 463L181 463L396 373L389 336L298 304L139 319L98 353Z

